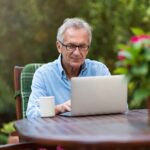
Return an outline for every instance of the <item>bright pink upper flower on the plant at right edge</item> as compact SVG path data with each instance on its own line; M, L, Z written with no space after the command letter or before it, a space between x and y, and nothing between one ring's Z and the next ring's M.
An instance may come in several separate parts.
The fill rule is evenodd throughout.
M137 43L137 42L141 42L143 40L150 40L150 35L143 34L143 35L139 35L139 36L133 36L133 37L131 37L130 42Z

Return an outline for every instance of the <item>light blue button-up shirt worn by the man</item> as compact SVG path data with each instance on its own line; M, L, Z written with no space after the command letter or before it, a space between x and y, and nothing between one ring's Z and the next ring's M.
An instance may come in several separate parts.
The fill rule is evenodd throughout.
M79 77L110 75L101 62L86 59ZM40 117L38 99L42 96L55 96L55 105L64 103L71 97L71 82L61 64L61 56L53 62L44 64L33 76L31 95L27 107L27 118Z

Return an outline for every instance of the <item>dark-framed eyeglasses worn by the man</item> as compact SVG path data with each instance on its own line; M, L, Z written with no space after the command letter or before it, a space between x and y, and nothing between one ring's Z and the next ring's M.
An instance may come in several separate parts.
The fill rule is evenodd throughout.
M78 48L80 52L85 52L89 49L89 45L64 44L62 42L60 43L62 44L62 46L66 48L67 51L70 51L70 52L75 51L76 48Z

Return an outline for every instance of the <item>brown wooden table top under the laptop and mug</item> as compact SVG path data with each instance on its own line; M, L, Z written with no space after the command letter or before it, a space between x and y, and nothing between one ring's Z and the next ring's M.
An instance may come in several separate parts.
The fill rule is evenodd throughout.
M116 145L150 146L148 110L130 110L126 114L35 118L15 122L21 137L46 145Z

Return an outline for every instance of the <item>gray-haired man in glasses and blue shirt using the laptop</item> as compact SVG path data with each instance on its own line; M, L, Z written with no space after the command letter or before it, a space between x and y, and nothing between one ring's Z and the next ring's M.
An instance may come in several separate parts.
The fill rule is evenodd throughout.
M71 77L110 75L108 68L86 59L92 40L91 27L82 19L65 19L57 33L58 59L40 67L34 74L27 117L40 117L38 99L55 96L55 112L70 111Z

